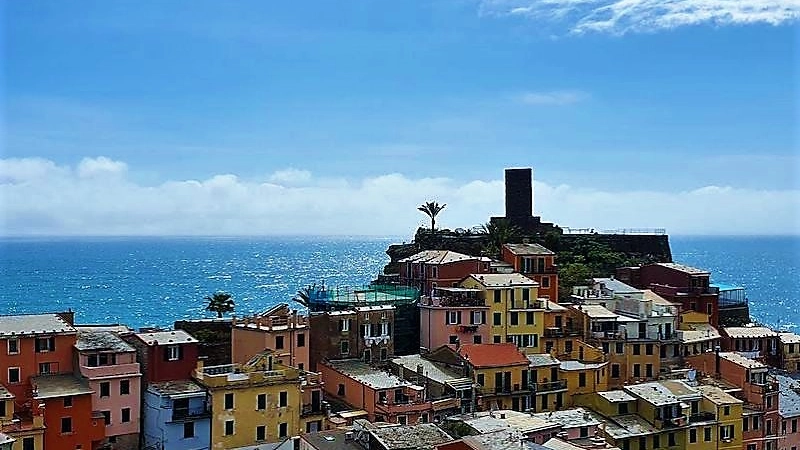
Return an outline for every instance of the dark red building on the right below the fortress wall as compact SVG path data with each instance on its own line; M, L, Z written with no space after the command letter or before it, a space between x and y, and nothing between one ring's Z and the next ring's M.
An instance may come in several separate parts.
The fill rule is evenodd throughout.
M714 327L719 324L719 289L711 287L711 273L676 263L656 263L641 267L620 267L616 278L639 289L650 289L682 311L709 315Z

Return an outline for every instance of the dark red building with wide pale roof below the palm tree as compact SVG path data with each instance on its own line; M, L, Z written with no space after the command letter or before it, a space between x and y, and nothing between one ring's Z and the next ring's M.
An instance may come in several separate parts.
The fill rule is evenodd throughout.
M423 295L430 295L433 288L457 286L471 273L489 273L491 260L449 250L425 250L399 263L400 284L418 287Z

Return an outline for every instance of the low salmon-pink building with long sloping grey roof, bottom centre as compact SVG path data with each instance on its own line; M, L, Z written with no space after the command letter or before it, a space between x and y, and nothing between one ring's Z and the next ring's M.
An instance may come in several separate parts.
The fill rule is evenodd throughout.
M430 422L433 404L422 386L370 366L359 359L321 361L325 397L367 412L370 422Z

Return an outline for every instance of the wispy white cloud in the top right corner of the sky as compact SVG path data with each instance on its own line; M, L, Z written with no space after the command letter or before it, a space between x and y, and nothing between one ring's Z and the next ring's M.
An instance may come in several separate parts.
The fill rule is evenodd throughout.
M800 18L800 0L483 0L481 13L621 35L706 23L779 25Z

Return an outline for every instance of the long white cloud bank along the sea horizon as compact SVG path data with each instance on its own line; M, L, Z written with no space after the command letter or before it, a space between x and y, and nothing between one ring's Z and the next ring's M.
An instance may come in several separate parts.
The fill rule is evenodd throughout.
M263 180L220 174L147 186L122 161L74 166L0 159L3 235L410 235L426 201L447 203L446 228L503 214L503 181L458 183L394 173L353 182L296 168ZM670 234L796 234L800 191L705 186L683 192L534 183L534 210L565 227L664 227Z

